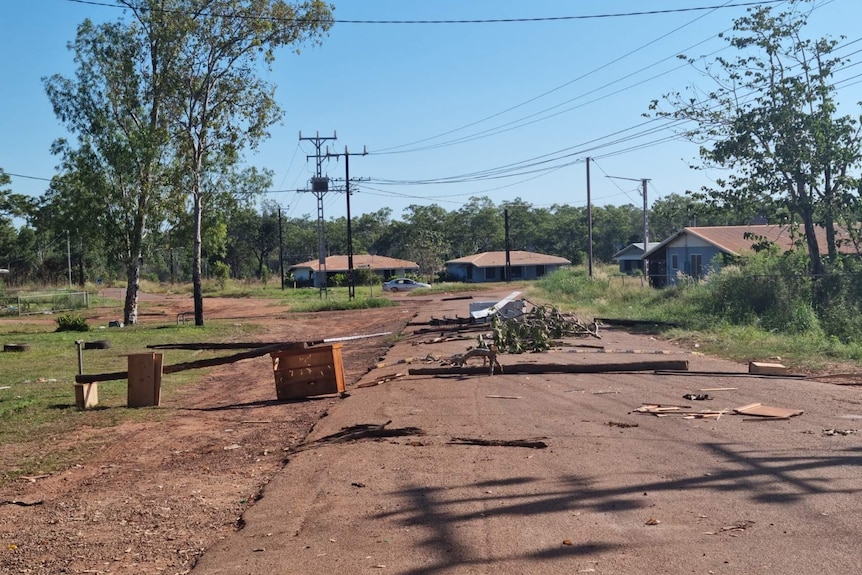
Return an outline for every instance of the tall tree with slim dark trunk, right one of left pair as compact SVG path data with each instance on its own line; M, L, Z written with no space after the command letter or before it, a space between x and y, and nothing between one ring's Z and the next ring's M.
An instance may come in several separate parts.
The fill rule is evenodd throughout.
M123 0L141 8L156 0ZM167 0L163 0L167 1ZM159 20L179 20L186 35L172 70L177 87L173 129L194 217L192 283L195 325L203 325L201 284L202 213L208 190L205 174L217 165L240 160L268 136L281 110L274 86L261 78L271 68L276 49L313 41L332 21L331 8L320 0L289 4L282 0L173 0L179 11L149 12Z

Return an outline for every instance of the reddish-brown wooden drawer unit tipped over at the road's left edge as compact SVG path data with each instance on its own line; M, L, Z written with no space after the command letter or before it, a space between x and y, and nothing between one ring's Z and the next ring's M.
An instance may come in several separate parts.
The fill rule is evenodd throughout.
M344 391L341 344L271 353L278 399L299 399Z

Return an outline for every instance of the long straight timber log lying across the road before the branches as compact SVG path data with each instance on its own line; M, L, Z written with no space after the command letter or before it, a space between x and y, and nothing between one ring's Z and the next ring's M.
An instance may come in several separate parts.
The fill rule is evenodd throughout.
M662 369L684 371L688 369L688 361L637 361L630 363L595 363L587 365L566 363L521 363L504 365L502 371L495 370L494 374L610 373L620 371L656 371ZM410 375L488 375L488 367L479 365L416 367L410 369L408 373Z

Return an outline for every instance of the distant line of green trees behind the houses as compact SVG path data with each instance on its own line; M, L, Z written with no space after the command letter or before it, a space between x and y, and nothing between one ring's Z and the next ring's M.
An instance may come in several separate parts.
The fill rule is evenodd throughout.
M316 260L316 218L279 212L271 200L258 204L253 195L224 195L218 206L204 214L204 274L224 263L235 279L277 278L282 253L285 269ZM497 204L488 197L471 198L450 211L434 204L411 205L399 217L390 208L354 216L354 253L415 261L423 274L433 275L448 259L505 249L506 213L511 249L557 255L575 264L586 261L586 206L537 207L521 199ZM0 267L11 272L7 283L62 285L68 281L70 262L75 284L124 279L123 259L111 252L101 230L78 222L70 226L63 206L50 191L16 214L26 217L27 224L16 229L11 218L0 220ZM695 223L745 223L739 217L674 194L653 203L650 233L663 238ZM187 220L180 218L147 235L142 277L160 282L191 279L192 228ZM598 262L610 262L621 248L642 241L643 211L632 204L594 206L592 220L593 256ZM330 218L324 225L327 254L346 254L347 219Z

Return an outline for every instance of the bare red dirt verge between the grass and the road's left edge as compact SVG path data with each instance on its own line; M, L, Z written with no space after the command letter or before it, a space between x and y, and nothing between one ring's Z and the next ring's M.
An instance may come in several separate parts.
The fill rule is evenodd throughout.
M267 341L308 341L398 333L416 308L414 298L398 299L397 308L290 315L266 301L207 299L205 310L208 319L264 325ZM187 297L148 302L141 321L171 323L189 304ZM348 391L388 345L383 337L344 344ZM146 421L24 446L55 453L87 447L68 469L2 488L0 572L187 573L235 529L285 464L285 452L338 401L276 401L263 357L213 370L163 400ZM8 456L21 447L0 449Z

